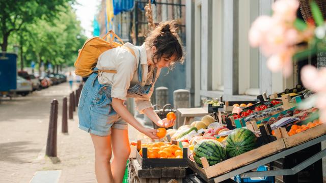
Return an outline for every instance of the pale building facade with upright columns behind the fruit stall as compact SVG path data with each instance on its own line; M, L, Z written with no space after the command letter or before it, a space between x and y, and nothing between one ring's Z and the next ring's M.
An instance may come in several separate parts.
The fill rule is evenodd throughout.
M249 45L252 22L270 15L274 0L186 1L186 89L192 106L202 98L253 100L297 83L271 73L258 48ZM294 69L295 71L295 69Z

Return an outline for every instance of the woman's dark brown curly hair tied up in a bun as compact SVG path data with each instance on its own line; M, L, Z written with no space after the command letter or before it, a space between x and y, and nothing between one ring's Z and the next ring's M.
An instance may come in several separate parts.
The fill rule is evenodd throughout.
M156 59L170 58L175 55L175 60L172 60L171 65L184 61L184 51L179 35L179 23L176 20L161 22L157 27L150 32L145 39L145 44L148 47L155 46L156 51L152 55L152 60L156 65Z

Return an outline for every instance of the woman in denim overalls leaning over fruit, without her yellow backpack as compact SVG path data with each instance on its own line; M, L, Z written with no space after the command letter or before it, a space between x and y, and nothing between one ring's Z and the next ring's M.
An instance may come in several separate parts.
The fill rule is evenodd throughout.
M124 101L134 98L136 108L160 127L174 120L160 119L150 103L154 83L161 68L183 62L183 49L177 35L177 22L160 23L138 47L103 52L95 70L116 70L116 74L95 72L87 79L79 99L79 128L91 134L95 148L95 174L99 183L122 182L130 154L127 123L152 139L156 130L143 127L127 110ZM112 163L110 159L114 155Z

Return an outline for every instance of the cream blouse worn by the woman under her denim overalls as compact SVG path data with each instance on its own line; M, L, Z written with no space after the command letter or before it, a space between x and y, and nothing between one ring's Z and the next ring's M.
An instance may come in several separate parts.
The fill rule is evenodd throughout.
M99 70L117 71L116 74L99 72L98 82L100 84L111 85L111 97L119 98L121 100L127 99L127 89L138 82L139 53L141 54L140 67L142 67L143 70L142 86L145 84L151 84L153 80L153 69L148 73L145 43L140 47L134 46L131 43L125 43L124 46L131 48L134 51L136 58L130 53L130 51L117 47L103 52L98 57L96 65ZM159 73L160 69L157 68L155 81L159 76ZM153 107L150 102L153 90L154 83L147 95L134 99L136 108L141 113L144 109Z

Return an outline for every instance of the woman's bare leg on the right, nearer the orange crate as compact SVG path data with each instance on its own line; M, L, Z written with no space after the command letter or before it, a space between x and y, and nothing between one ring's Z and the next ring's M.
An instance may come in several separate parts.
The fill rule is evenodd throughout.
M111 164L113 179L115 183L120 183L123 180L127 159L130 155L128 130L112 129L111 143L113 150Z

